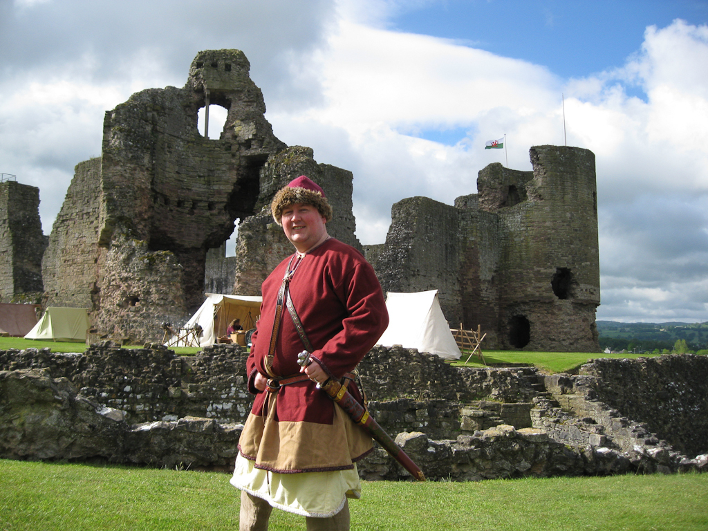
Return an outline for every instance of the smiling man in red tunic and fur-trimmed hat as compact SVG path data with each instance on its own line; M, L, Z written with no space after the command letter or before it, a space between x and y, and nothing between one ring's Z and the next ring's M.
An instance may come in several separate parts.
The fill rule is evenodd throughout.
M318 383L346 382L389 318L381 285L359 251L327 234L332 209L306 176L273 198L275 222L295 254L262 285L246 363L256 395L231 483L241 489L241 531L266 530L275 508L304 515L308 530L348 530L347 498L359 498L356 462L372 450L360 426ZM298 365L307 350L312 362Z

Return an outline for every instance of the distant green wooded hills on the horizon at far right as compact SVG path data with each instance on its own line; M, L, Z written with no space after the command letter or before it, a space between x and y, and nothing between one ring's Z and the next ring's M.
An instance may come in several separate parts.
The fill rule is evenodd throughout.
M600 347L612 350L671 350L684 339L691 350L708 348L708 322L705 323L619 323L595 321Z

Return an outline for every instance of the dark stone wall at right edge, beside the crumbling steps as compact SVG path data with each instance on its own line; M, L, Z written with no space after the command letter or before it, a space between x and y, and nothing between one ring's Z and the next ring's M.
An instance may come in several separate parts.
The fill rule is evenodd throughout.
M578 375L547 377L546 387L561 408L593 419L622 450L663 440L697 455L707 450L706 382L706 356L666 355L593 360Z

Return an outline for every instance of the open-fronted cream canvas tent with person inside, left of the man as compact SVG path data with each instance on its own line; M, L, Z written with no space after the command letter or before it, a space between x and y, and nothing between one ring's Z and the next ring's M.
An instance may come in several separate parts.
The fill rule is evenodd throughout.
M241 319L244 330L256 328L256 320L261 315L262 297L246 297L243 295L219 295L206 293L206 300L187 321L185 328L192 328L195 324L202 327L202 336L199 345L206 347L217 342L217 338L226 334L227 326L234 319Z

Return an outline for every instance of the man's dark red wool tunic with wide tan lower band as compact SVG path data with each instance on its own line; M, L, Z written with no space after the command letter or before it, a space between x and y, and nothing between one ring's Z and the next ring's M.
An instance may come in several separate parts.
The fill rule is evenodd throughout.
M261 318L246 364L251 392L256 392L256 372L268 375L265 358L278 290L289 262L290 258L282 261L263 282ZM315 349L312 358L334 377L352 371L388 326L384 295L373 268L361 253L336 239L302 258L289 289ZM284 308L273 359L275 375L299 374L297 354L302 350L302 340ZM335 411L338 406L314 382L282 387L268 402L268 392L256 393L239 448L257 468L283 473L350 469L370 450L370 438L348 418L342 421Z

